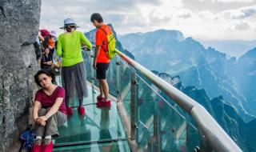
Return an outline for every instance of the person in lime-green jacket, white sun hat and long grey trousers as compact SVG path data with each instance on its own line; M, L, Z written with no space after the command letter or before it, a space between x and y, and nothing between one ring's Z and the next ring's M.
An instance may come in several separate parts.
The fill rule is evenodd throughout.
M82 102L83 98L88 95L86 67L81 48L84 45L87 50L91 50L92 44L82 32L76 30L77 28L73 18L66 18L64 26L61 27L65 33L58 36L57 54L62 57L62 86L66 91L65 101L68 115L73 114L69 102L74 94L78 95L78 113L84 115L85 108Z

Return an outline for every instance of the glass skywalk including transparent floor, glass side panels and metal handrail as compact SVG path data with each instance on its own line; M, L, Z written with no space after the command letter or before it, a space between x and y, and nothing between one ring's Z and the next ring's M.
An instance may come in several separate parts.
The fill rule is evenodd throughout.
M91 82L86 115L73 98L74 115L59 128L54 151L242 151L198 102L118 50L106 74L112 106L98 109L93 56L83 55Z

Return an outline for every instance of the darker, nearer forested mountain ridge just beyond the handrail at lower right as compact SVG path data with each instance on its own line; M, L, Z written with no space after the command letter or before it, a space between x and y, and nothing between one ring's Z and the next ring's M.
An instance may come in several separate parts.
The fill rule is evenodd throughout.
M251 122L244 122L238 114L238 110L230 102L226 102L222 95L210 99L206 90L197 89L194 86L183 86L180 77L171 77L166 73L154 71L160 78L164 79L181 90L184 94L190 96L200 103L215 118L220 126L226 130L227 134L238 143L238 146L245 152L256 151L256 119ZM161 93L163 97L165 95ZM166 98L168 100L168 98ZM186 115L186 114L183 114ZM190 117L187 117L190 118ZM190 120L191 121L191 120Z

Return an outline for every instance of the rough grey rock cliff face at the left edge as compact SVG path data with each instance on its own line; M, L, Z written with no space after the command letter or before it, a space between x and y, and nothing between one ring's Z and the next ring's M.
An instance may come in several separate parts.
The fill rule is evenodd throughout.
M33 98L41 0L0 1L0 151L13 151Z

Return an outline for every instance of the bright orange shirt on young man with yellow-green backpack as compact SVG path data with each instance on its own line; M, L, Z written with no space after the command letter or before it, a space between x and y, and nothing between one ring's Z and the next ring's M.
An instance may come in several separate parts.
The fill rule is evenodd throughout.
M97 62L109 63L110 58L108 58L107 55L106 55L106 51L108 51L106 34L102 29L106 31L106 34L111 34L112 33L112 30L111 30L110 26L106 26L106 25L101 26L96 31L95 45L96 46L101 46L101 49L100 49L99 54L98 54Z

